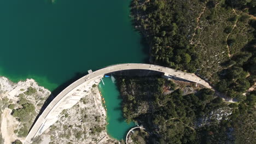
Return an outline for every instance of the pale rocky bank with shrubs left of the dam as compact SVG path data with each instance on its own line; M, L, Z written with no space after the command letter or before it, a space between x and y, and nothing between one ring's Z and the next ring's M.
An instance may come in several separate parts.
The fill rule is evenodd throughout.
M0 77L0 143L23 141L50 94L33 79L14 83Z

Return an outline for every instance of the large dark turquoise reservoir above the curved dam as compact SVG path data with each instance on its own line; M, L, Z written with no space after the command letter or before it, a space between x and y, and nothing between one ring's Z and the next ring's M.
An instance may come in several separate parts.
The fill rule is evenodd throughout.
M77 73L147 59L128 0L0 0L0 75L51 91Z

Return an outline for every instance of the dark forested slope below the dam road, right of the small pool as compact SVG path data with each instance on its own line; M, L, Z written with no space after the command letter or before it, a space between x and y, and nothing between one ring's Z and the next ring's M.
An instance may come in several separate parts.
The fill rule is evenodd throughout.
M184 94L162 78L119 77L118 84L124 117L146 128L139 133L146 143L256 142L255 92L237 105L216 97L211 89Z

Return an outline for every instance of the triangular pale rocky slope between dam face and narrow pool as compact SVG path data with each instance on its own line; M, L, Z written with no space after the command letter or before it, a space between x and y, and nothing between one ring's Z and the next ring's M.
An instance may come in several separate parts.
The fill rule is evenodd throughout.
M71 109L63 110L59 121L46 130L39 142L50 143L119 143L106 131L106 110L101 94L93 87ZM41 140L40 140L41 139Z

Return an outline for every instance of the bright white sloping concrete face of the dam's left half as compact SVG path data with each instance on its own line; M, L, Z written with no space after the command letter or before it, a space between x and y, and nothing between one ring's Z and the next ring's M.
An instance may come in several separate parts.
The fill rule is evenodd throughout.
M39 116L37 122L33 125L24 143L32 143L31 139L33 137L41 135L46 129L53 125L59 119L60 113L77 104L81 98L88 94L92 85L97 85L100 82L101 77L102 76L83 82L65 94L61 99L56 97L51 101L42 115Z

